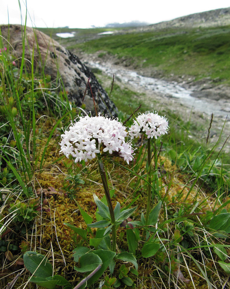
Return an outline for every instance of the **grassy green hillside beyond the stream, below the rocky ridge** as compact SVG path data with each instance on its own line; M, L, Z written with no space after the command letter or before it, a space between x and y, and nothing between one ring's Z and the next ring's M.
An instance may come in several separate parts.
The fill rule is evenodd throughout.
M99 33L98 29L84 30L88 35ZM45 32L44 29L43 31ZM89 41L85 36L83 43L76 43L79 42L78 34L73 38L59 40L75 52L100 51L101 58L116 56L118 61L121 59L126 66L153 68L155 71L162 71L166 76L191 75L196 79L218 77L220 81L230 84L229 32L230 26L173 28L135 33L128 33L127 30L127 33L106 35Z

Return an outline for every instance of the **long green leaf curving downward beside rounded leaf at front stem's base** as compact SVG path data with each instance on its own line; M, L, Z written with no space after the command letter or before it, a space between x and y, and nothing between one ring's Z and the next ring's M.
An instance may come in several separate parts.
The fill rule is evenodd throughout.
M87 281L87 287L90 287L95 281L97 281L101 277L101 275L109 266L111 260L113 260L114 256L116 255L116 253L113 251L103 249L95 250L94 253L101 258L103 263L102 267Z

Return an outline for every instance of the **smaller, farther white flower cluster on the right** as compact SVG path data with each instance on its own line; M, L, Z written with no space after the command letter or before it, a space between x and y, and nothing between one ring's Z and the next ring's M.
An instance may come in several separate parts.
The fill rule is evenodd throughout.
M158 115L157 112L146 111L134 120L129 135L131 139L141 138L142 133L145 133L147 138L157 138L161 134L167 134L168 128L168 121L165 117Z

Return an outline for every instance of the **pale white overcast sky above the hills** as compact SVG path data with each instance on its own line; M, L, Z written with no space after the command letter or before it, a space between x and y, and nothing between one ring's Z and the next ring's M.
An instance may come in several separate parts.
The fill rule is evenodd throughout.
M20 2L24 22L25 0ZM90 28L134 20L152 24L226 8L229 3L229 0L27 0L27 26ZM0 0L0 7L0 24L21 23L18 0Z

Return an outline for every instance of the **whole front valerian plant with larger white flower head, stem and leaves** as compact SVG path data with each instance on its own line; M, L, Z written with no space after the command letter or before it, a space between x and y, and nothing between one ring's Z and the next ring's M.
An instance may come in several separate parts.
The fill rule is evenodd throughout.
M65 130L61 135L61 150L67 158L70 155L75 159L75 162L81 160L88 161L97 158L100 176L105 192L105 200L100 200L95 194L93 195L94 201L97 205L97 222L92 223L92 218L84 212L81 208L81 214L87 223L88 231L91 232L92 237L87 239L87 231L76 228L73 225L65 223L73 231L79 234L89 245L95 248L91 251L87 247L77 247L74 249L74 260L79 261L80 267L75 267L78 272L86 273L99 268L93 276L91 276L84 285L90 286L96 281L109 266L111 273L115 267L114 259L132 262L137 269L137 261L132 253L122 252L116 254L116 231L117 227L127 219L135 208L121 210L121 205L117 202L113 209L111 201L111 191L108 188L106 178L103 156L111 154L124 158L129 164L133 160L134 150L130 142L126 142L127 136L126 127L122 125L118 119L111 119L107 116L80 116L79 121L76 121ZM97 216L98 216L97 215ZM94 236L91 228L97 228L96 235ZM112 246L110 233L112 233Z

